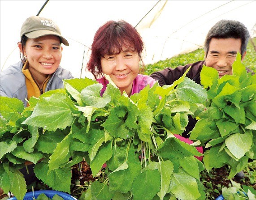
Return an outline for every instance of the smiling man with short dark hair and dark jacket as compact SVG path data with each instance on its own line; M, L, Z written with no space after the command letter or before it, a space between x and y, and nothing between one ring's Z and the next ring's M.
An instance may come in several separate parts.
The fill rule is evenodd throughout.
M247 28L239 21L218 21L208 32L204 43L205 60L198 61L177 68L165 68L153 72L150 76L159 82L159 85L171 85L178 80L191 66L187 77L200 84L200 72L203 65L217 69L219 77L226 74L232 75L232 64L236 59L237 52L246 55L246 47L250 34ZM250 70L247 69L247 72ZM252 72L253 73L253 72Z

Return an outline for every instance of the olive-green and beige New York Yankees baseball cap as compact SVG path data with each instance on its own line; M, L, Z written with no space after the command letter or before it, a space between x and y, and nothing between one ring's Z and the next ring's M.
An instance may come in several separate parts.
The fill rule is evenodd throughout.
M26 35L28 38L39 38L44 35L56 35L61 39L61 43L69 46L68 41L61 36L60 28L50 19L31 16L24 21L21 29L21 38Z

